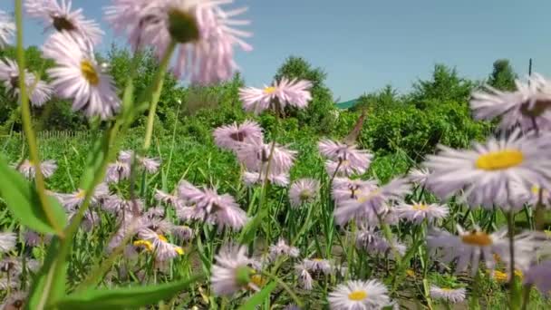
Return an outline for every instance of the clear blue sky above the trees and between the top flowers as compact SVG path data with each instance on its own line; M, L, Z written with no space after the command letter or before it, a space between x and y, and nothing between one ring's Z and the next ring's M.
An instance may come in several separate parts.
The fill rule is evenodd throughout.
M87 17L102 20L109 0L73 0ZM407 92L428 78L435 63L456 66L481 79L498 58L508 58L517 73L551 75L548 0L236 0L252 21L255 50L237 53L247 84L270 82L290 54L304 56L328 73L335 99L356 98L391 83ZM13 11L14 1L0 9ZM100 50L113 40L107 35ZM42 28L25 21L25 44L42 44Z

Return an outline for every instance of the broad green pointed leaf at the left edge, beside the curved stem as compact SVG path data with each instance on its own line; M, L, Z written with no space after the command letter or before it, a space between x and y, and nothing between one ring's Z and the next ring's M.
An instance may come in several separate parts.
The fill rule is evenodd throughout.
M55 234L55 229L43 211L34 184L10 168L4 158L0 158L0 176L0 198L5 200L7 208L14 217L24 226L37 232ZM62 206L57 199L52 197L48 199L54 219L60 224L59 226L64 227L66 218Z

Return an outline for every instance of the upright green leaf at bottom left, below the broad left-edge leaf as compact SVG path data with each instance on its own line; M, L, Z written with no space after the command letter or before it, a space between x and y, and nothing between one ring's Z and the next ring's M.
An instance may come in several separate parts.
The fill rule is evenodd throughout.
M53 237L48 247L48 253L43 266L36 276L34 276L33 286L29 294L25 309L43 309L50 299L55 300L65 294L65 278L67 268L63 267L63 274L54 275L55 264L67 264L59 257L60 239Z

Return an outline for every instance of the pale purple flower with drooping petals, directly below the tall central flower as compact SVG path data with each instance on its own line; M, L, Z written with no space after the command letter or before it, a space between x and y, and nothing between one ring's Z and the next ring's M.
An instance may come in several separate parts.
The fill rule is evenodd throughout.
M274 154L271 155L270 176L279 176L289 172L295 161L295 150L288 150L283 146L275 144ZM266 144L262 141L251 141L242 143L237 148L237 159L242 162L247 170L259 172L266 175L268 160L272 151L272 143Z

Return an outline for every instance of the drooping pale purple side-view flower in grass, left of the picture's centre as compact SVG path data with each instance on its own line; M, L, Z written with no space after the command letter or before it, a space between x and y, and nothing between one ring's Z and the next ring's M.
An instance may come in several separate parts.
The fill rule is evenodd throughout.
M198 189L189 182L182 181L179 184L179 196L195 204L192 207L195 216L190 218L212 220L220 230L225 227L240 229L247 223L247 213L239 208L236 200L228 194L218 195L216 189Z

